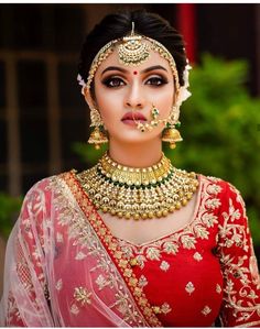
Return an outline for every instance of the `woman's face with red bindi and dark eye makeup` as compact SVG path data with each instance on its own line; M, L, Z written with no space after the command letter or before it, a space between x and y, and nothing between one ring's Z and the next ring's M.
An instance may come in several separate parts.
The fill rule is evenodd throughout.
M160 139L163 124L141 132L136 121L152 120L156 107L159 119L166 119L174 103L174 79L170 65L156 52L139 66L119 63L115 51L101 63L95 75L95 106L99 110L109 140L144 142Z

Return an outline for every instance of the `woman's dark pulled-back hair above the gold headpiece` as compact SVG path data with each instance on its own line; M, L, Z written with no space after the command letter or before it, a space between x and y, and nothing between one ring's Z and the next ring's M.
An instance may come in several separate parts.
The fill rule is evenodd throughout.
M172 54L176 63L180 85L183 86L183 72L187 64L183 37L169 21L145 10L111 13L95 25L86 36L80 51L78 73L83 79L87 81L90 65L100 48L108 42L129 34L132 22L134 22L136 33L156 40Z

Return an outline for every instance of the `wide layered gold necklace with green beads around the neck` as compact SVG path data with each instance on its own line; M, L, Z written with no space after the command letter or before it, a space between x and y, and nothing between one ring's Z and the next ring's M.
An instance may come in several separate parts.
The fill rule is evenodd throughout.
M161 218L181 209L198 187L195 173L173 167L164 154L151 167L134 168L113 162L106 153L77 177L97 209L136 220Z

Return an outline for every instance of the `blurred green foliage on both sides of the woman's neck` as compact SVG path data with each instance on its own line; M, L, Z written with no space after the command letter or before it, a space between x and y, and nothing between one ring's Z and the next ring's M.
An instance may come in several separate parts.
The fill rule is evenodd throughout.
M260 245L260 99L246 87L248 64L209 54L189 74L192 97L181 108L181 134L175 150L164 146L176 167L220 177L241 193L253 242ZM74 150L89 165L106 147L77 143Z

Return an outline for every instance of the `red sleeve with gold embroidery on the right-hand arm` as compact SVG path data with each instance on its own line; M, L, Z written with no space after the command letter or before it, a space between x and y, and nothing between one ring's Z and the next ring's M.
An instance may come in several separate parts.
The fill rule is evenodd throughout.
M226 184L219 221L218 254L224 275L220 321L225 327L260 326L260 278L246 208Z

